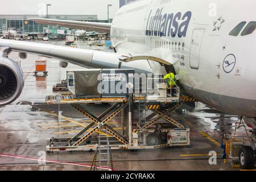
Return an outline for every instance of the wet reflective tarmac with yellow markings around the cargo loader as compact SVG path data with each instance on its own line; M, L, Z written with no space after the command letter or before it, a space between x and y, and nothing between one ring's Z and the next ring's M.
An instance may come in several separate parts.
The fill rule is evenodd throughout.
M64 42L54 44L64 46ZM90 48L88 43L79 44L81 48ZM15 60L18 54L11 53L10 58ZM21 67L26 79L23 92L13 104L0 107L0 170L89 170L86 164L92 163L94 152L46 152L47 139L72 137L83 125L90 123L71 105L44 104L46 96L59 94L52 92L52 86L65 78L65 71L81 67L69 64L64 69L59 67L59 60L48 59L48 75L35 77L32 72L37 58L28 55L26 60L22 60ZM100 115L109 105L85 107ZM191 129L191 146L112 151L114 169L234 170L230 164L224 164L221 159L223 150L219 146L222 134L234 131L237 118L201 103L196 103L196 107L184 105L181 109L185 110L174 113L174 118ZM119 119L113 119L110 126L120 130ZM209 164L210 151L217 153L216 165Z

